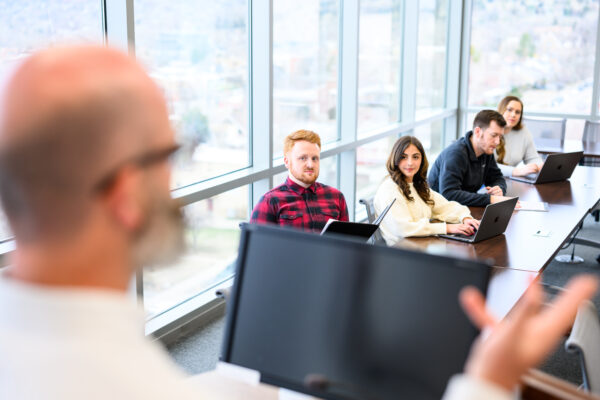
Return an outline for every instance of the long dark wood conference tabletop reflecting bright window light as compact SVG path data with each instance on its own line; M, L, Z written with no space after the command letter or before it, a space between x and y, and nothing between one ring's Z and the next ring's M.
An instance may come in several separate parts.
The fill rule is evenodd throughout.
M515 211L503 235L477 244L430 236L406 238L397 246L487 259L498 267L541 272L600 200L600 168L578 166L570 180L541 185L507 179L507 186L509 196L548 202L548 212ZM483 210L473 207L471 213L481 218Z

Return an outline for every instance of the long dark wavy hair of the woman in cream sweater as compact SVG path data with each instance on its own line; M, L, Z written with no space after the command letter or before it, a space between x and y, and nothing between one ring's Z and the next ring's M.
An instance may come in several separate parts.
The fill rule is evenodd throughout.
M427 162L425 150L419 139L414 136L402 136L400 139L396 140L396 143L394 143L394 147L392 148L392 153L388 157L386 168L392 180L396 182L398 187L400 187L400 190L402 190L404 197L406 197L408 201L414 201L413 197L410 195L410 189L404 174L400 171L400 168L398 168L398 164L400 164L400 161L402 160L404 151L411 144L421 153L421 166L413 177L413 185L419 197L423 199L425 203L432 205L433 199L431 198L429 184L427 183L427 169L429 168L429 163Z

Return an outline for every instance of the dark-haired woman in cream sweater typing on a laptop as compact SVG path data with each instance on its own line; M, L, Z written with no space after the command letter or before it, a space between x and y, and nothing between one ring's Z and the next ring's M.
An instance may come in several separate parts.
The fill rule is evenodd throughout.
M407 236L441 233L472 235L479 221L469 209L429 189L427 157L423 145L414 136L396 141L387 163L389 176L381 183L373 205L381 213L392 199L396 202L383 219L380 229L388 245ZM431 219L441 222L431 222Z

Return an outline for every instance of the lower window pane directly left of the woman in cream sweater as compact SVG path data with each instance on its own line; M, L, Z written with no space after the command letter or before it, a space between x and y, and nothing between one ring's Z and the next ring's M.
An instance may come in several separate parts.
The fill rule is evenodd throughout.
M356 149L356 210L362 215L364 206L358 201L375 195L379 184L387 176L385 162L397 136L371 142ZM366 217L366 214L365 214Z

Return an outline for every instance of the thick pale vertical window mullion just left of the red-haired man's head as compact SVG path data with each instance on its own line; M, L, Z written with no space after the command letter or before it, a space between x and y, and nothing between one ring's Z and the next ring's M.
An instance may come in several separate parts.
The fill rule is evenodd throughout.
M250 136L252 166L273 168L273 2L250 3ZM272 175L252 183L250 209L271 188Z

